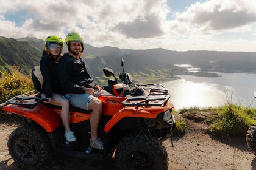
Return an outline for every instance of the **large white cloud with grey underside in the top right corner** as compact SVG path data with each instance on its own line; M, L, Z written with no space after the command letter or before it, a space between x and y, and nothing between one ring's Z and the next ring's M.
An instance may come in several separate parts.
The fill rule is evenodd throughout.
M215 33L244 27L256 22L256 1L210 0L197 2L186 12L177 13L177 21L200 27L202 33Z

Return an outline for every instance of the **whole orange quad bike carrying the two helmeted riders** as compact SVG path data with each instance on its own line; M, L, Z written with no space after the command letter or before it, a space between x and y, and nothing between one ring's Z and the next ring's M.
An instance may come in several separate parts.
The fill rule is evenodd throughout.
M70 107L71 130L77 140L65 141L60 107L41 102L46 99L40 98L37 70L32 72L36 90L1 104L2 112L21 115L26 121L8 140L10 155L18 165L38 169L55 154L90 160L114 157L118 169L168 169L168 154L162 142L175 129L168 89L161 84L136 84L131 90L132 77L124 67L119 79L112 69L105 68L105 75L115 79L102 87L109 94L98 97L103 103L98 134L104 142L104 150L99 151L90 147L90 110Z

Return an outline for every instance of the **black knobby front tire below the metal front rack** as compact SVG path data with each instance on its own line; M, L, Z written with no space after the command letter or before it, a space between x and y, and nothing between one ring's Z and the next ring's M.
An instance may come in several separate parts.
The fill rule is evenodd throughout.
M168 154L155 137L140 132L125 137L116 148L118 169L168 169Z

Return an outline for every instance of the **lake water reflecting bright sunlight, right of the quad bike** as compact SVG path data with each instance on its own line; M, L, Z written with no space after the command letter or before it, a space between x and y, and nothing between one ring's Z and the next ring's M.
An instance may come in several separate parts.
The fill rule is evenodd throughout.
M256 91L256 74L219 73L221 77L179 75L180 80L163 82L170 90L176 109L183 107L218 107L227 104L226 94L232 103L256 108L253 92Z

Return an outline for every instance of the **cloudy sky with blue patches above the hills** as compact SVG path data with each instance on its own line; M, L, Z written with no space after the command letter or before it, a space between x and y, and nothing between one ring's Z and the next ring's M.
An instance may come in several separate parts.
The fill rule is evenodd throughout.
M94 47L256 52L256 0L0 0L0 36Z

